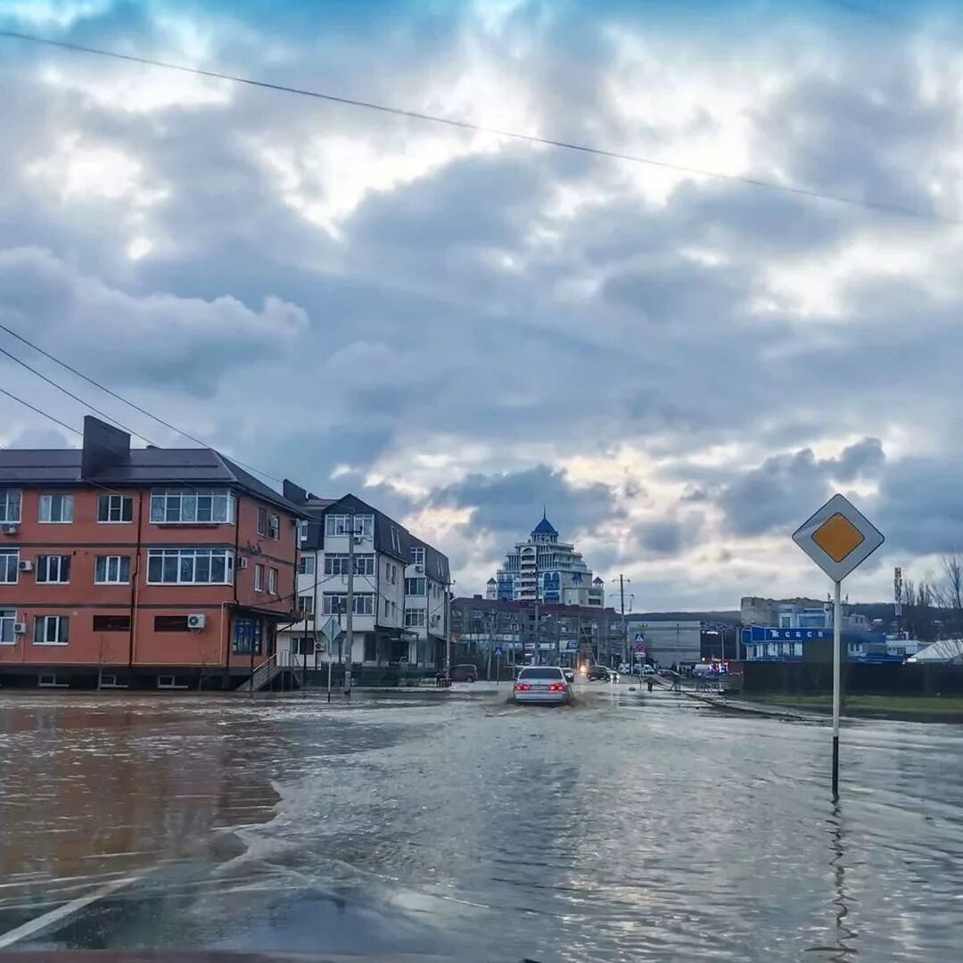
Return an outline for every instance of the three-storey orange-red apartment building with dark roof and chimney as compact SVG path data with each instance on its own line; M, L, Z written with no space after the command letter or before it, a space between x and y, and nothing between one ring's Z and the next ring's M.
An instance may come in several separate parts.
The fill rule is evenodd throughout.
M299 508L212 449L0 451L0 686L233 688L295 608Z

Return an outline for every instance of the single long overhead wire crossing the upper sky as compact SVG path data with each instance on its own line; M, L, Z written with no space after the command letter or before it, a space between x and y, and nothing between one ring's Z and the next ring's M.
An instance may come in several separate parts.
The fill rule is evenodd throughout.
M891 204L886 201L876 201L860 197L828 194L823 191L811 190L809 188L794 187L790 184L780 184L777 181L765 180L759 177L747 177L740 174L727 174L719 170L696 168L685 164L673 164L669 161L659 161L651 157L642 157L638 154L628 154L618 150L608 150L603 147L593 147L586 143L561 141L550 137L539 137L535 134L523 134L518 131L503 130L499 127L489 127L485 124L473 123L470 120L461 120L457 117L442 117L436 114L427 114L423 111L414 111L402 107L392 107L387 104L379 104L372 100L359 100L354 97L343 97L334 93L311 91L299 87L288 87L285 84L272 84L266 80L256 80L252 77L243 77L237 74L222 73L219 70L205 70L201 67L188 66L185 64L174 64L169 61L156 60L152 57L138 57L134 54L122 54L116 50L107 50L101 47L90 47L81 43L70 43L67 40L54 40L45 37L36 37L33 34L23 34L14 30L0 30L0 38L24 40L28 43L39 43L45 46L59 47L63 50L71 50L75 53L92 54L97 57L110 57L114 60L125 61L130 64L143 64L146 66L162 67L165 70L178 70L181 73L190 73L195 74L195 76L198 77L209 77L214 80L229 81L232 84L244 84L247 87L256 87L265 91L292 93L301 97L311 97L315 100L324 100L328 103L341 104L346 107L359 107L364 110L377 111L380 114L391 114L396 117L408 117L412 120L423 120L429 123L444 124L445 126L455 127L459 130L476 131L482 134L493 134L497 137L510 138L511 140L515 141L537 143L546 147L558 147L562 150L574 150L583 154L591 154L597 157L607 157L612 160L626 161L631 164L643 164L649 167L664 170L675 170L680 173L694 174L699 177L713 177L717 180L745 184L749 187L761 188L767 191L778 191L784 194L792 194L802 197L814 197L819 198L820 200L833 201L837 204L848 204L854 207L867 208L869 210L880 211L886 214L897 214L901 217L918 218L923 221L937 221L948 224L963 223L963 221L959 221L957 219L945 218L929 211L922 211L911 207L903 207L899 204Z

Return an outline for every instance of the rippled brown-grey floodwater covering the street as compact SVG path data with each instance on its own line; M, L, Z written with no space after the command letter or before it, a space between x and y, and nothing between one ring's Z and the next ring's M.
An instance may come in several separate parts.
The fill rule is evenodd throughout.
M955 961L961 759L849 723L834 806L824 725L658 690L6 695L0 949Z

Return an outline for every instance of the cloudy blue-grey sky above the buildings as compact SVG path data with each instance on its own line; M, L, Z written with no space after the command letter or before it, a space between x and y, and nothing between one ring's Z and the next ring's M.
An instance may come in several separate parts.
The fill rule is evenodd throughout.
M841 490L887 535L850 597L888 598L893 565L963 545L961 24L870 0L0 0L8 31L669 165L0 38L0 323L395 513L462 592L545 503L637 610L820 595L789 536ZM0 444L76 437L0 396Z

